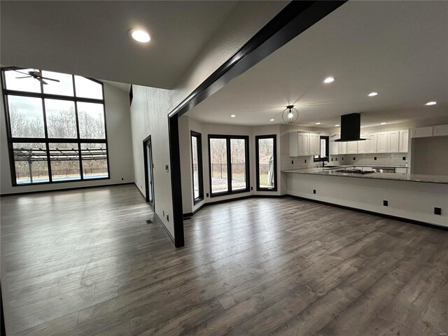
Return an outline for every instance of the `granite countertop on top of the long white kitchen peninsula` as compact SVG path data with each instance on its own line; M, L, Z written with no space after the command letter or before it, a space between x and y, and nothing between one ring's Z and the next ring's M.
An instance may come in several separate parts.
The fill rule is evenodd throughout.
M362 165L349 165L343 167L362 167ZM365 166L372 167L372 166ZM378 167L386 167L384 165ZM392 166L389 166L392 167ZM425 183L440 183L448 184L448 175L421 175L421 174L397 174L397 173L370 173L370 174L351 174L342 172L334 172L338 168L307 168L307 169L291 169L283 170L283 173L293 174L312 174L312 175L326 175L326 176L342 176L353 177L356 179L380 179L380 180L394 180L394 181L411 181L411 182L425 182Z

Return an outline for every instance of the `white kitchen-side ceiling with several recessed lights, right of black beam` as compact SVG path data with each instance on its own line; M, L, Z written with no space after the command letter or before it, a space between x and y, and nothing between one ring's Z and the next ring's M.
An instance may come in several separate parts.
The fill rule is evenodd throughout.
M187 116L268 125L283 123L288 104L297 124L318 127L347 113L361 113L363 127L448 118L448 1L349 1Z

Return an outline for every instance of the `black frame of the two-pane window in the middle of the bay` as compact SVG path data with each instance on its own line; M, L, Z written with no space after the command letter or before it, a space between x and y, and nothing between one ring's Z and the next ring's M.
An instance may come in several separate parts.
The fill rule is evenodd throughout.
M225 196L225 195L233 195L233 194L239 194L239 193L247 193L251 190L251 174L250 174L250 167L249 164L249 136L248 135L223 135L223 134L209 134L209 186L210 186L210 197L218 197L218 196ZM211 151L210 151L210 140L211 139L225 139L227 144L227 169L228 169L228 190L223 191L220 193L213 193L213 190L211 188ZM238 190L232 190L232 155L230 150L230 140L231 139L244 139L244 148L246 151L245 160L246 160L246 188L245 189L238 189Z

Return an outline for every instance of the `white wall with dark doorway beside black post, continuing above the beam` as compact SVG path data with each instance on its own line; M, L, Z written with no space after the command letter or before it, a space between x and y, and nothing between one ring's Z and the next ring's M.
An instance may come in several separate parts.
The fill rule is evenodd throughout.
M256 13L248 13L246 3L237 3L234 10L216 31L214 37L200 52L195 62L174 90L134 85L131 106L132 148L134 153L135 183L145 193L144 158L142 141L151 135L153 141L155 212L174 237L171 176L165 172L169 165L168 113L208 76L241 48L269 20L279 13L287 2L263 1ZM181 52L181 51L179 51ZM204 141L204 139L202 139ZM171 167L169 167L171 169ZM165 211L165 217L162 216ZM185 211L183 211L185 213ZM167 221L169 215L170 221Z

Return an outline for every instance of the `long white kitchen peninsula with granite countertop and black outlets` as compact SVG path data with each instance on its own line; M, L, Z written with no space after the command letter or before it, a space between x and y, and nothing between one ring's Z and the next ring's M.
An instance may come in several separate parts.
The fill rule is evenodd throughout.
M448 176L351 174L319 167L282 171L282 181L288 195L448 227Z

